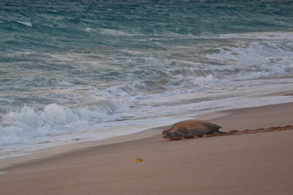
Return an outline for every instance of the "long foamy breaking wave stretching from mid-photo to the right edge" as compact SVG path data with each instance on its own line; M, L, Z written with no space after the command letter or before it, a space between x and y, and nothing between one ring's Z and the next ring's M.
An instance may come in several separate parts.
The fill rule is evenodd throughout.
M191 92L234 80L260 78L293 73L293 42L250 42L245 46L213 48L204 54L205 64L145 70L152 79L134 81L119 87L129 94L160 94ZM177 63L178 62L171 62ZM164 92L164 94L162 93Z

